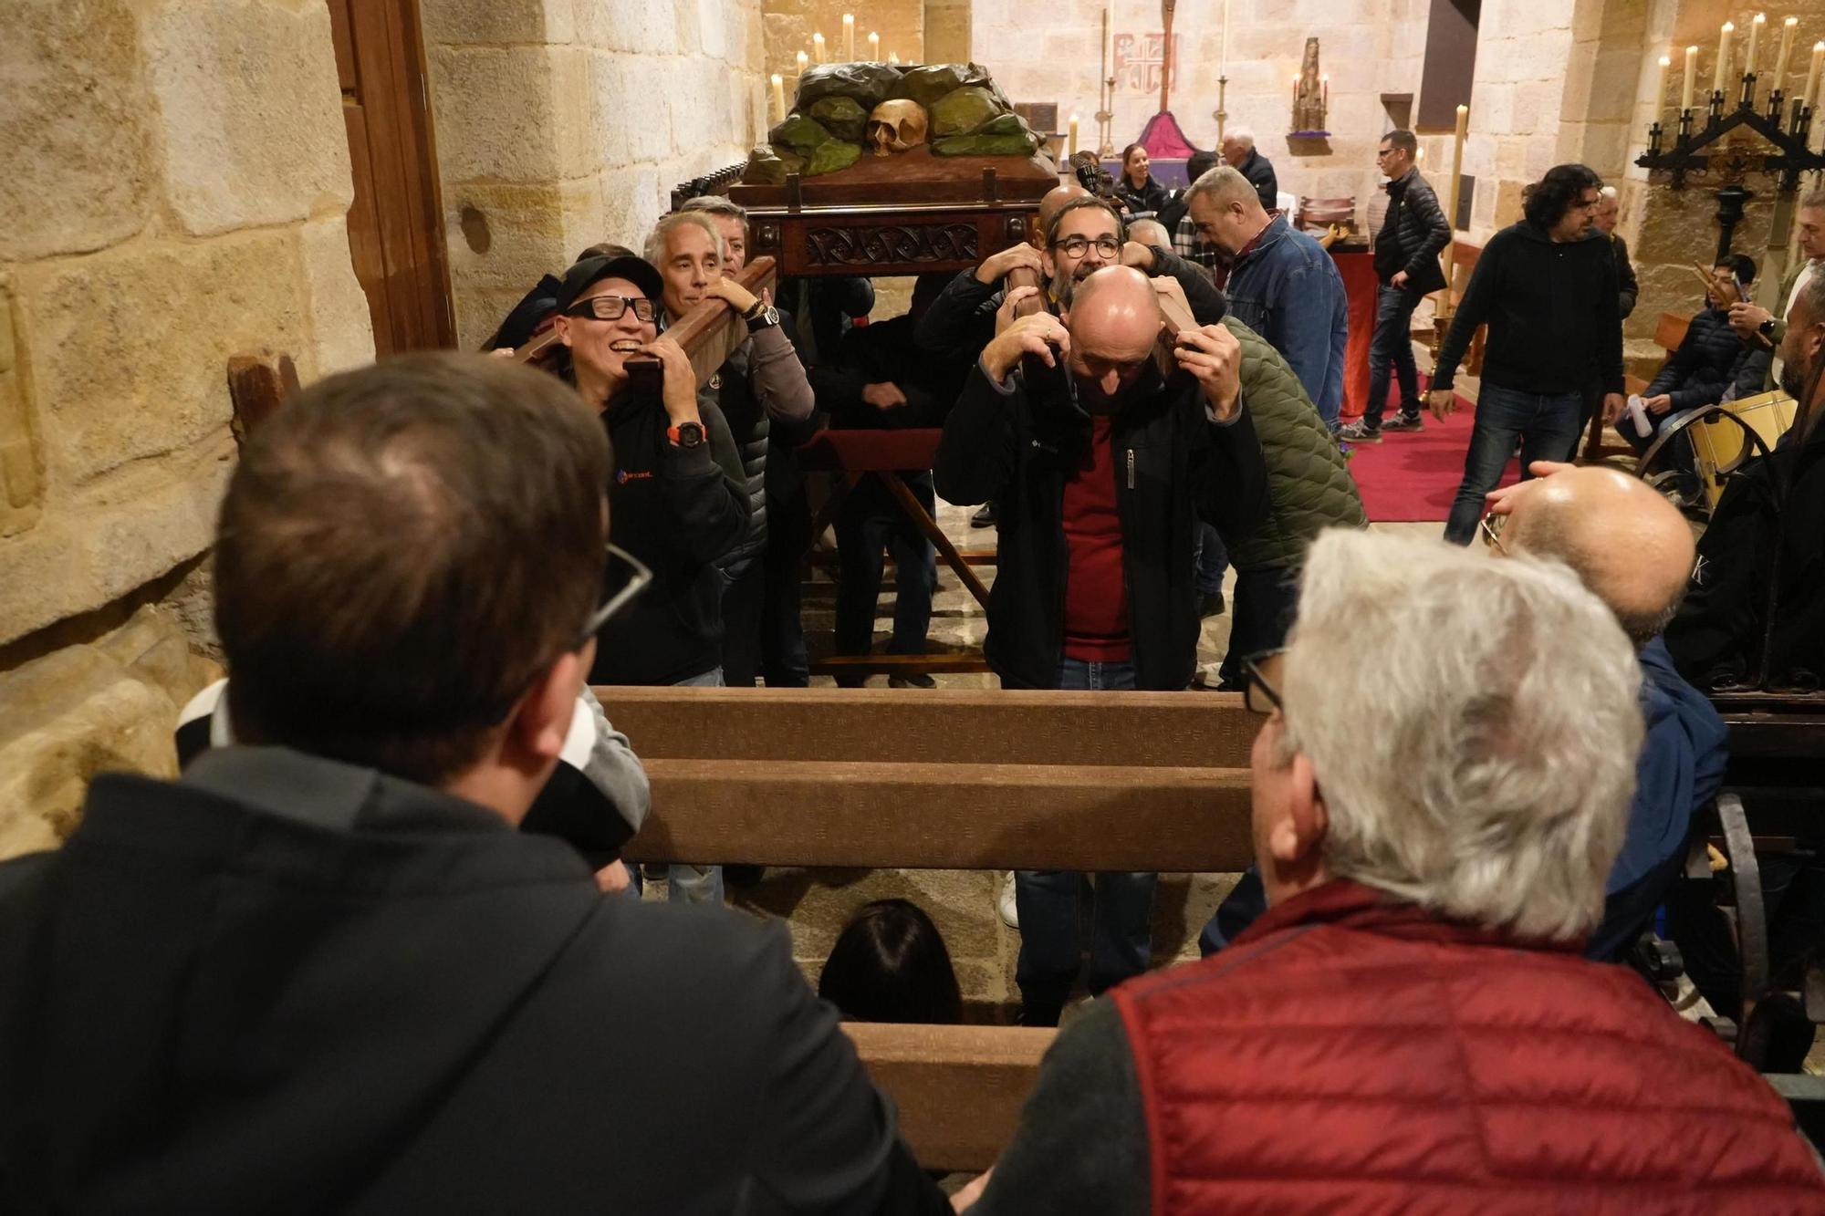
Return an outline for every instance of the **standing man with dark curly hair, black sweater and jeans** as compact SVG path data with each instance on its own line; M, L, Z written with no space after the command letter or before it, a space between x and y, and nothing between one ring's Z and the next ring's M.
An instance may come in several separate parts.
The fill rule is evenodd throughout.
M1535 460L1570 460L1590 383L1602 389L1602 420L1622 413L1622 318L1615 256L1590 239L1602 179L1582 164L1546 172L1522 199L1520 223L1484 246L1438 349L1429 405L1444 422L1456 409L1453 382L1471 334L1489 325L1476 422L1445 540L1469 544L1484 495L1520 442L1522 477Z

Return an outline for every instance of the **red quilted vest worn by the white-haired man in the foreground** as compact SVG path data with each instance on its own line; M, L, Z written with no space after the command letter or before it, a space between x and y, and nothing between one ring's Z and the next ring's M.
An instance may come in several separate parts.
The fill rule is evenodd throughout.
M1785 1103L1632 971L1350 882L1113 997L1155 1216L1825 1212Z

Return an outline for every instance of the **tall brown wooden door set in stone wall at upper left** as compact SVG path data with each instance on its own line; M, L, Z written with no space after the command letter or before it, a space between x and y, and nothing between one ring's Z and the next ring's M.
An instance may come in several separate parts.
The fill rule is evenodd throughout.
M416 0L327 0L354 206L349 252L374 354L456 341Z

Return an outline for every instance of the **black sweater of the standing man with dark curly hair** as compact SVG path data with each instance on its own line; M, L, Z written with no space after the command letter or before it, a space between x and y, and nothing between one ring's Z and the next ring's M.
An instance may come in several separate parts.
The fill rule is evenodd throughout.
M1434 389L1453 385L1484 323L1484 383L1517 393L1582 393L1590 383L1622 391L1622 314L1608 237L1559 243L1528 221L1489 237L1438 351Z

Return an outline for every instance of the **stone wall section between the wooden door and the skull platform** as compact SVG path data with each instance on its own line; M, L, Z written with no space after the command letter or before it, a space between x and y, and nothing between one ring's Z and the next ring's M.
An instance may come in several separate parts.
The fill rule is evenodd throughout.
M458 343L765 133L761 0L422 0Z

